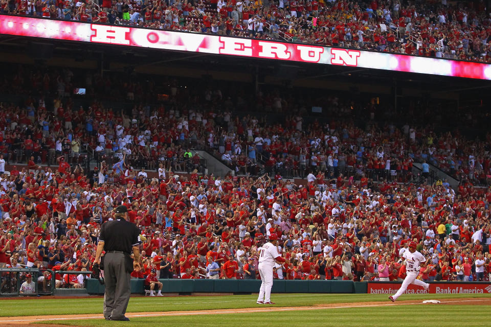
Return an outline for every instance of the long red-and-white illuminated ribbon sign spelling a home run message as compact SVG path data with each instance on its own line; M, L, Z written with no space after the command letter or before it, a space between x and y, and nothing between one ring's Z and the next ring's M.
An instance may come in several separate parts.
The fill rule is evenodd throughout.
M0 15L0 33L491 80L491 65L328 46Z

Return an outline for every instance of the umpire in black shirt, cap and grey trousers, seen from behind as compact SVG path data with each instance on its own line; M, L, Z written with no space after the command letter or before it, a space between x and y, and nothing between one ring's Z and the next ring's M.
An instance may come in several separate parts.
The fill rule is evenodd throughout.
M102 250L105 293L104 317L106 320L123 320L129 296L131 295L131 276L134 270L141 269L140 229L127 221L127 208L120 205L114 209L115 220L102 224L94 263L100 264ZM135 260L131 259L131 252Z

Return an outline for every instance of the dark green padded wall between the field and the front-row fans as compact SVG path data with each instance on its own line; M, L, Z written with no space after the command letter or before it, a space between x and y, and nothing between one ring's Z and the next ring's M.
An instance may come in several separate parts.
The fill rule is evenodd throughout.
M257 279L159 279L162 293L257 293ZM104 294L104 285L87 279L88 294ZM366 282L285 281L275 279L272 293L367 293ZM131 293L144 293L144 279L131 279Z

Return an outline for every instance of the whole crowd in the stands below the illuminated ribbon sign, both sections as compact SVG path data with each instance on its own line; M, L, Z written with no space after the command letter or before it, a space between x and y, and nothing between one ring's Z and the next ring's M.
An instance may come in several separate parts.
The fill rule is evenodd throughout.
M337 97L324 101L330 120L305 124L306 104L278 90L256 98L266 112L291 113L274 124L234 114L244 100L219 88L171 86L167 104L128 112L96 100L77 108L68 95L73 77L68 69L5 77L19 92L30 84L56 97L46 103L41 92L24 95L20 106L2 103L0 171L10 165L0 176L2 266L90 271L100 226L122 204L142 231L144 270L135 278L152 269L161 278L257 278L258 248L276 233L280 253L291 259L276 267L277 278L399 280L401 255L414 240L428 258L423 280L489 280L491 190L476 188L479 174L473 178L487 179L489 139L378 126L373 103L363 106L372 122L362 128L350 114L357 105ZM109 77L92 78L88 84L111 88ZM135 101L137 85L119 91ZM264 159L266 173L176 173L186 165L169 159L192 160L193 144L230 157L237 173L241 161ZM87 149L101 153L94 170L66 160ZM137 164L154 161L154 178L129 159L136 154L144 157ZM453 170L459 188L412 183L413 160ZM27 167L12 166L18 162ZM278 162L291 162L293 176L306 181L283 179L273 169ZM344 175L347 168L355 173ZM57 287L83 283L83 275L55 277ZM48 279L38 281L45 287Z

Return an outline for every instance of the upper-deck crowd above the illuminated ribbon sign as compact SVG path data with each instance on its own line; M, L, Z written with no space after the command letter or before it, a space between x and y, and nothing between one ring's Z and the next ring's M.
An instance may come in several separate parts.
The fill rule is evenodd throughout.
M491 17L475 3L2 0L0 13L489 62Z

